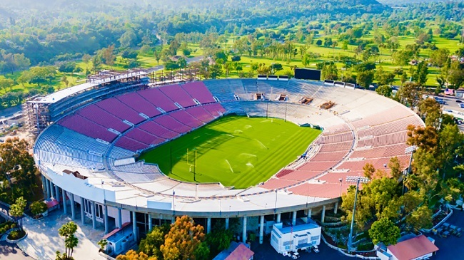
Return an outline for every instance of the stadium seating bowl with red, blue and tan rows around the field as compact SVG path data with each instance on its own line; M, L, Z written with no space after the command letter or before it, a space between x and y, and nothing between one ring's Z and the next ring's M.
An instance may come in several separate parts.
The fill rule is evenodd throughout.
M263 95L263 100L256 100L256 93ZM286 101L279 100L282 95ZM303 98L312 101L302 105ZM321 109L328 101L335 105ZM388 161L398 157L407 167L406 128L423 125L413 111L366 90L304 80L206 80L138 90L86 105L42 132L34 156L43 169L107 176L150 192L168 193L176 187L186 195L203 190L219 196L227 193L220 184L198 188L169 179L157 165L135 162L116 166L115 162L228 113L283 118L323 128L301 160L258 187L261 192L285 189L328 198L340 196L340 190L350 185L346 177L362 175L366 163L388 174Z

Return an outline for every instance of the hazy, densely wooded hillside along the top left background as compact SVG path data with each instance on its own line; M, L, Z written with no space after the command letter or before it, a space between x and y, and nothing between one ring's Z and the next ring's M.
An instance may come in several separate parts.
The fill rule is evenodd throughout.
M375 0L5 0L0 7L0 48L3 56L24 53L31 65L36 65L80 58L113 43L136 46L144 37L145 41L157 41L156 31L174 36L205 33L214 27L219 33L240 28L238 33L243 34L283 21L341 19L387 9ZM124 33L126 43L120 41ZM0 71L15 70L0 64Z

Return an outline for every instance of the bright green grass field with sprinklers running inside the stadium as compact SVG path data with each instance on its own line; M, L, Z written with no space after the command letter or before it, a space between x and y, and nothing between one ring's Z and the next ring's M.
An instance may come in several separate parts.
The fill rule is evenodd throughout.
M158 164L176 180L246 188L268 180L295 160L320 133L281 119L226 116L156 147L140 159Z

